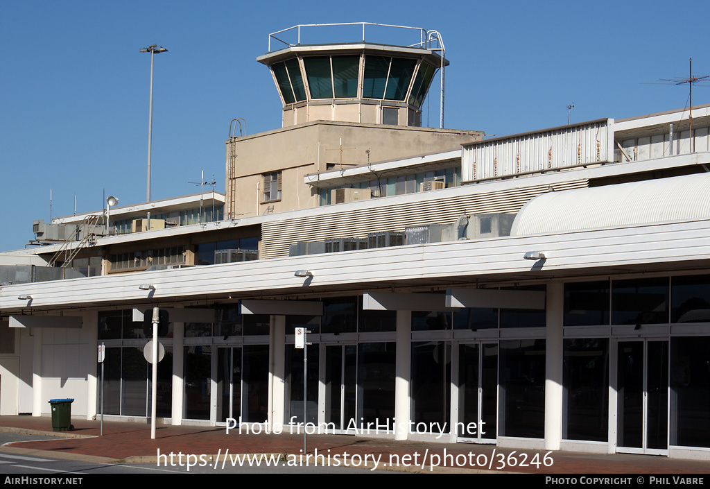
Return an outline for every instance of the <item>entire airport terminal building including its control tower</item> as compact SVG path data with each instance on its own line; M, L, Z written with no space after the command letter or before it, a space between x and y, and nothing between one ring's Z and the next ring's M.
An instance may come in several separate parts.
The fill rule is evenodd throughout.
M0 414L97 416L105 345L105 414L148 419L158 307L175 425L302 422L305 327L329 432L710 459L710 106L422 127L448 62L415 32L270 36L283 127L233 121L224 195L35 222L0 254Z

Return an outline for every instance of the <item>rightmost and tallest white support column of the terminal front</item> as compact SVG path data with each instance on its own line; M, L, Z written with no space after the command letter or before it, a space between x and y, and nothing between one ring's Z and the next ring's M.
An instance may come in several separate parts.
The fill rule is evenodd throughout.
M545 327L545 450L559 450L562 441L562 320L564 286L547 284Z

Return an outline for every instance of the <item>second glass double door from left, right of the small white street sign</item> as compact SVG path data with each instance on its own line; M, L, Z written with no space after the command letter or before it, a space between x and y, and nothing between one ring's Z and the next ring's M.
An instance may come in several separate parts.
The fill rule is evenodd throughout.
M357 345L326 345L324 422L337 433L354 434L358 426L356 380Z

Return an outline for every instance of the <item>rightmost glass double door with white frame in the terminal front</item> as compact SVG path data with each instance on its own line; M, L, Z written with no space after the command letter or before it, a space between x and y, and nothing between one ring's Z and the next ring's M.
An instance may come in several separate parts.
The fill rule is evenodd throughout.
M668 340L623 340L617 353L616 451L668 454Z

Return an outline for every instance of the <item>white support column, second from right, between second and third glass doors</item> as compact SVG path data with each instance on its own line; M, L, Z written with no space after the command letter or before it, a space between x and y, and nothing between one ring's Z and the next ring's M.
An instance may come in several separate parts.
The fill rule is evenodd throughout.
M395 366L395 440L406 440L411 417L412 311L397 311Z

